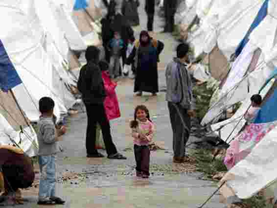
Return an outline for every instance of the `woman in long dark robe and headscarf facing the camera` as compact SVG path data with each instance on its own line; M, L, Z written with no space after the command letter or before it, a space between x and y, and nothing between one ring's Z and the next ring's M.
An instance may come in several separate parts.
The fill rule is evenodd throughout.
M137 75L134 92L138 92L138 96L141 96L142 92L151 92L153 96L159 92L158 62L163 46L161 41L152 39L147 31L141 31L139 41L136 41L126 61L126 64L130 65L135 60Z

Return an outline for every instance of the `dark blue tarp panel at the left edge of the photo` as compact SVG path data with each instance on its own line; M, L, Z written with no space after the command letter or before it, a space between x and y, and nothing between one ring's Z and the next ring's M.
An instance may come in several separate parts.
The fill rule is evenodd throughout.
M0 40L0 89L8 92L21 83L22 81Z

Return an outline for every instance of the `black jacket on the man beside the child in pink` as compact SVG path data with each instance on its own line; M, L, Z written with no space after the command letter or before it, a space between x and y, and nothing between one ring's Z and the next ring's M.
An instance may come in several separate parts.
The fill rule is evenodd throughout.
M84 103L101 104L104 102L106 92L98 64L91 61L82 67L77 87L82 93Z

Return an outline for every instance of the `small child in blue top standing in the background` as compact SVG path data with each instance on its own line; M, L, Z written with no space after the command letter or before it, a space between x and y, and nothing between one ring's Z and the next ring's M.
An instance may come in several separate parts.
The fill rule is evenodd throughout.
M119 32L114 33L114 38L109 43L109 50L111 51L110 60L110 76L112 79L119 76L121 51L124 47L123 40L120 38Z

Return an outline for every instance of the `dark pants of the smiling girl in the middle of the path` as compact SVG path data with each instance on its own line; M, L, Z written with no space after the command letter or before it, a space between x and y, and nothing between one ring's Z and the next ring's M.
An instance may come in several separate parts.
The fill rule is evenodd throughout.
M136 170L149 176L150 149L148 146L134 145L135 159L137 163Z

